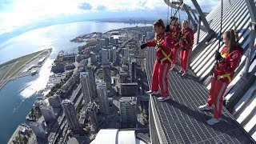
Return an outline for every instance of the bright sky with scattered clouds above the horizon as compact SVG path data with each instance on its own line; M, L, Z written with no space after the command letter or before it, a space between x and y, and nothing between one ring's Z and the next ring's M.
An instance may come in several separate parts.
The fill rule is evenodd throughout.
M184 2L193 7L190 0ZM221 0L198 0L206 12L213 10L219 2ZM0 35L44 22L158 17L167 14L168 10L170 8L163 0L1 0Z

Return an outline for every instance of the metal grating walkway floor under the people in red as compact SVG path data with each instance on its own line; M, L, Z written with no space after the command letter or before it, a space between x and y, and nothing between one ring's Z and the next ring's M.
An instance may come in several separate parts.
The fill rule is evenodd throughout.
M154 66L154 48L147 49L146 69L148 80ZM158 102L154 97L161 128L168 143L255 143L236 122L234 117L223 107L221 122L209 126L213 110L200 111L198 106L206 103L209 91L189 70L186 78L180 78L177 71L168 75L170 100ZM151 83L151 82L150 82Z

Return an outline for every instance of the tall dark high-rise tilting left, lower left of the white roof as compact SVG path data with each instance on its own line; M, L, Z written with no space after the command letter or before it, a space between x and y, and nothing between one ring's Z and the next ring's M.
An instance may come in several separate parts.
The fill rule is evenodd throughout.
M79 133L82 130L82 126L78 122L77 113L74 108L74 103L70 102L70 100L66 99L62 101L62 108L65 113L67 122L69 123L69 126L71 130L74 133Z

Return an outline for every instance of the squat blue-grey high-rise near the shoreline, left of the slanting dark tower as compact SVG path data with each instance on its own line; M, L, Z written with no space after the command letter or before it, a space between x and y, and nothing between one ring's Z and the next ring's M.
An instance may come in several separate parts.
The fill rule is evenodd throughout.
M42 113L43 118L45 118L46 122L50 122L54 119L56 119L56 116L54 114L54 109L52 106L40 106L39 107Z

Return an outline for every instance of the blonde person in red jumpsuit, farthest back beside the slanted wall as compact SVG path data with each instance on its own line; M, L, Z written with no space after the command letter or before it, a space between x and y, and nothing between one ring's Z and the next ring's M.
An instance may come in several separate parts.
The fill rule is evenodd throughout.
M182 30L180 32L180 46L181 46L181 70L178 74L182 74L181 77L185 76L189 67L189 57L194 44L194 32L189 27L189 21L184 20L182 22Z

